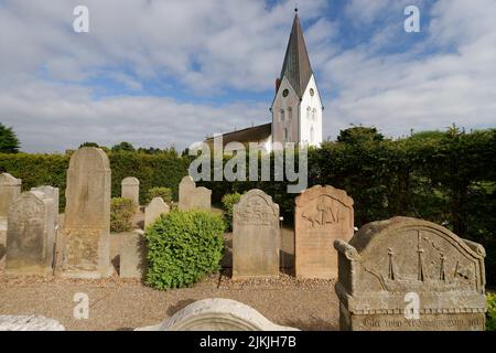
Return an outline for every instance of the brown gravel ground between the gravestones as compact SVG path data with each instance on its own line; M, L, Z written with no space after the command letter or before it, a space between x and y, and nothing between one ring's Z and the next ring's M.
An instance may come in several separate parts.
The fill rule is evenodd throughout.
M83 280L61 277L15 277L0 270L0 312L53 318L67 330L132 330L172 317L187 304L206 298L227 298L246 303L280 325L301 330L338 330L338 300L332 280L299 280L292 275L292 229L282 232L279 279L230 278L231 234L226 233L223 270L191 288L154 290L138 279L122 279L119 269L119 236L111 235L114 275L108 279ZM0 239L0 244L4 239ZM2 254L0 254L0 257ZM0 260L1 261L1 260ZM74 295L89 297L89 319L74 319Z

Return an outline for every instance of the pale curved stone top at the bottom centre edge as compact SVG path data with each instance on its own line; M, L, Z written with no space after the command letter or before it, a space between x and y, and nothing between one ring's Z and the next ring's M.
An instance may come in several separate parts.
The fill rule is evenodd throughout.
M177 311L161 324L136 331L298 331L267 320L251 307L230 299L204 299Z

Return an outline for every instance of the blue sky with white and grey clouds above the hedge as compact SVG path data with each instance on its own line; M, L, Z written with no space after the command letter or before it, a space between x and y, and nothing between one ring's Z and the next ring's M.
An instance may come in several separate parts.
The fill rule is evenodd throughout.
M179 149L270 121L295 1L0 0L0 121L28 152ZM495 0L304 0L324 138L496 127ZM73 10L89 9L89 33ZM406 6L421 32L406 33Z

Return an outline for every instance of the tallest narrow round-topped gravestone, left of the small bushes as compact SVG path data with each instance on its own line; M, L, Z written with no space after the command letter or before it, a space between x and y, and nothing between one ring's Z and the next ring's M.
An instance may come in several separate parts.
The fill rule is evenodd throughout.
M110 167L107 154L84 147L71 158L65 191L63 276L110 276Z

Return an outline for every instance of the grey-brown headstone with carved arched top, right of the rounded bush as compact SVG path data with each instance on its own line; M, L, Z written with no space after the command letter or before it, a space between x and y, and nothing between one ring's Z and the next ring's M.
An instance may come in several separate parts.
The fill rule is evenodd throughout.
M233 211L233 278L279 277L279 205L250 190Z

